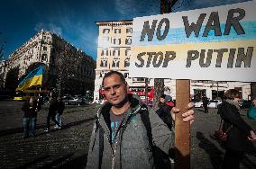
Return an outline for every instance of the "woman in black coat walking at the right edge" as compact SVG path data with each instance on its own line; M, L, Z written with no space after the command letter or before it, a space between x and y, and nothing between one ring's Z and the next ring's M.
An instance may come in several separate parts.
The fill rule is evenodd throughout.
M244 152L252 149L252 140L256 139L253 129L240 116L239 101L241 93L230 89L224 93L225 100L220 105L218 113L224 120L223 130L228 131L225 143L224 169L239 168Z

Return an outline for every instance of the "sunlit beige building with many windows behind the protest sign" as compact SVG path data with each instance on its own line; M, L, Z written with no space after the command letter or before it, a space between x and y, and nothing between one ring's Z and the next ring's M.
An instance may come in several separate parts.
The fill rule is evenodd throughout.
M98 26L98 47L96 59L96 81L94 98L98 99L101 83L105 73L117 70L123 73L128 85L132 89L145 86L145 78L131 78L129 66L133 36L133 20L96 22ZM149 86L153 87L153 79L149 79ZM242 92L242 98L250 99L250 83L215 82L191 80L190 95L193 99L200 100L202 95L210 99L223 97L224 91L236 88ZM165 79L165 93L176 99L176 81Z

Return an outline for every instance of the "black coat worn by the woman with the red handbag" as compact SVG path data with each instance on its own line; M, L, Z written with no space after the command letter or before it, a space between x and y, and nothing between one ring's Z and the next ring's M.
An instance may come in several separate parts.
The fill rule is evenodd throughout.
M228 132L225 147L234 151L250 151L252 149L252 143L247 137L250 136L252 129L242 120L236 106L224 101L220 104L218 113L220 113L221 118L224 120L224 131L233 125L232 129Z

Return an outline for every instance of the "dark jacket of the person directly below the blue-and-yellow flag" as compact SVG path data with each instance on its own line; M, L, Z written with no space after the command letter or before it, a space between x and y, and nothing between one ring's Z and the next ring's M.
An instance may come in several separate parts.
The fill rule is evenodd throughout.
M36 117L37 111L40 111L41 106L36 101L32 102L32 105L29 101L23 103L22 110L24 111L23 118Z

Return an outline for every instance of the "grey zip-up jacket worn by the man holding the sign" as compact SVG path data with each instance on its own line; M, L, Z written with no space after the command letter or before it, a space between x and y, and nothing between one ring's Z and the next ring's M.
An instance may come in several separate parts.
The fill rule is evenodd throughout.
M104 143L102 155L102 169L151 169L154 161L152 153L149 151L149 138L147 130L142 122L141 109L142 102L137 99L131 99L131 107L123 115L123 121L120 129L117 131L114 143L110 140L110 103L98 111L99 127L94 126L90 139L90 146L87 156L87 169L99 168L99 130L104 130ZM149 112L151 120L152 140L157 147L160 147L166 154L169 148L173 146L174 138L172 132L166 124L160 120L155 111Z

